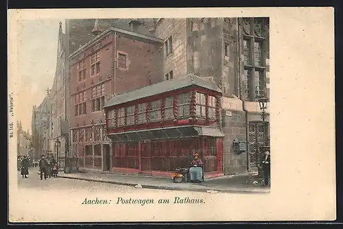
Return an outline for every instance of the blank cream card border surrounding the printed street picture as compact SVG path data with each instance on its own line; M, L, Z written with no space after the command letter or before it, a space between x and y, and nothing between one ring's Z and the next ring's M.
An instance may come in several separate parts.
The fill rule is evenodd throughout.
M9 139L10 221L259 221L335 219L335 101L333 8L189 8L10 10L8 93L14 117L31 115L18 101L30 96L19 85L21 20L130 17L270 17L270 194L189 193L143 189L137 193L62 190L17 191L16 136ZM28 38L29 39L29 38ZM21 57L23 58L23 57ZM43 80L43 79L41 79ZM81 205L85 197L198 197L205 204ZM44 205L43 205L44 204ZM56 211L53 213L52 208ZM196 210L194 210L196 208Z

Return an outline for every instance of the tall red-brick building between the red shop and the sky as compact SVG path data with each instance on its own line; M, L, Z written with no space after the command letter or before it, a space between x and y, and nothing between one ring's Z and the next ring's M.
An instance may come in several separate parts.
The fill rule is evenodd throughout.
M102 27L99 21L89 27L95 37L69 55L71 152L79 157L81 169L110 169L109 162L103 160L104 154L112 154L104 128L105 101L163 80L163 40L136 20L102 29L104 22ZM68 23L71 34L74 22ZM70 45L71 39L73 35L69 36Z

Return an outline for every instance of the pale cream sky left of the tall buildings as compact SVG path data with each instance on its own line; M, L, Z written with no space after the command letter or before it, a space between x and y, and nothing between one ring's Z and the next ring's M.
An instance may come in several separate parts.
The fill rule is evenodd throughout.
M54 81L58 27L63 19L23 20L18 34L18 92L16 112L23 130L31 133L32 107L39 106Z

